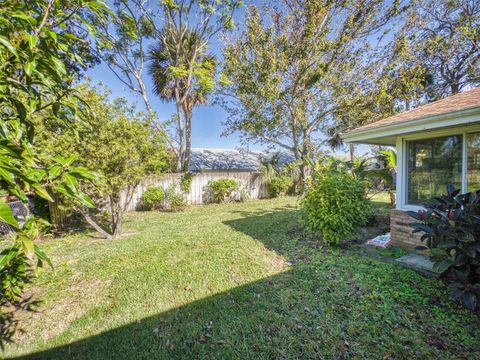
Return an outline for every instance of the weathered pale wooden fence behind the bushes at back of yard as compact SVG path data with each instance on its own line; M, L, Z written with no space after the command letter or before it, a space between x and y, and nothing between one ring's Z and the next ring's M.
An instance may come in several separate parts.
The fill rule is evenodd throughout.
M182 174L163 174L143 180L130 194L122 194L122 201L126 204L127 211L137 210L141 205L142 194L149 187L168 188L175 185L180 188ZM236 197L243 193L249 199L261 199L267 196L265 177L259 172L202 172L194 173L190 192L186 199L189 204L204 204L207 202L207 187L210 180L234 179L239 182L240 189ZM129 199L130 198L130 199Z

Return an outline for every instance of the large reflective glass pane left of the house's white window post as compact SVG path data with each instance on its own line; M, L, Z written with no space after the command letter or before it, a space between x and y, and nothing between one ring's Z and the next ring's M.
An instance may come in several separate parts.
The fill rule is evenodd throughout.
M407 142L408 204L424 204L462 187L462 135Z

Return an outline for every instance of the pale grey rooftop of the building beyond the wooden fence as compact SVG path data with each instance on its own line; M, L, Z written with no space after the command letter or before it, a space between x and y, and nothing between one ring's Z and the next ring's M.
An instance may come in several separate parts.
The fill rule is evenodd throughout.
M283 152L193 148L189 171L258 171L263 162L276 155L278 166L293 161L293 156Z

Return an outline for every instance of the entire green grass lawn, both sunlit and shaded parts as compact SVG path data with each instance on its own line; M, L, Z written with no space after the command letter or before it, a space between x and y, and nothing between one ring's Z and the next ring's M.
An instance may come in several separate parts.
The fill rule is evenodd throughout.
M119 240L45 243L55 271L30 286L43 304L5 356L480 357L479 321L441 282L322 248L294 198L135 213L125 226Z

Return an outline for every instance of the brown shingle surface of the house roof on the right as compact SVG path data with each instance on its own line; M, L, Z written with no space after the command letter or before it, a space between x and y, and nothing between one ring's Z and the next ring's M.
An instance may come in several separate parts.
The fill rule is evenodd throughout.
M480 107L480 88L452 95L445 99L419 106L413 110L405 111L400 114L361 126L350 131L350 133L362 132L364 130L404 123L407 121L418 120L435 115L444 115L476 107Z

